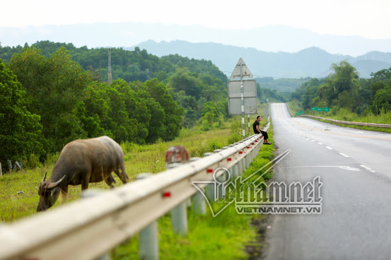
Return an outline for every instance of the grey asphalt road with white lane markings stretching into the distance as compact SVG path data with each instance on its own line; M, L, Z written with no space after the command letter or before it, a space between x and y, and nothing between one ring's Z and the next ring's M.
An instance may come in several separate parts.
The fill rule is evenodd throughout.
M323 185L321 214L276 214L266 259L391 259L391 134L292 118L271 104L275 181Z

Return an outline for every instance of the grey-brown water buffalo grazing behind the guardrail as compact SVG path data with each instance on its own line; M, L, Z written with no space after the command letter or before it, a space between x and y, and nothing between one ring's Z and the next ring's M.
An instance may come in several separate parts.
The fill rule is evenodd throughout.
M40 201L37 211L50 208L59 197L60 191L64 202L68 185L82 184L82 190L85 190L89 182L105 180L113 187L113 171L123 183L129 181L125 172L124 152L111 138L102 136L67 143L54 165L50 178L45 181L46 173L43 176L38 190Z

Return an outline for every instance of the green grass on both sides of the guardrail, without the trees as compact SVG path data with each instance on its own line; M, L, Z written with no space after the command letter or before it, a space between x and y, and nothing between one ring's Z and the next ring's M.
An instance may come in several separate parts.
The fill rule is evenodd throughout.
M134 180L135 176L142 172L163 171L165 169L164 153L171 145L184 145L190 156L200 156L203 152L232 143L228 140L235 140L235 138L232 139L232 133L238 132L238 127L241 133L241 123L223 122L220 126L222 129L206 132L197 127L193 130L184 129L180 136L171 142L160 141L151 145L121 144L125 154L126 171L130 179ZM273 130L270 128L269 140L271 142L273 142L272 136ZM241 139L241 136L239 138ZM251 174L271 160L272 151L273 145L263 145L258 157L253 160L244 176ZM51 173L53 161L55 160L52 159L51 163L40 165L33 170L26 169L0 177L0 221L12 222L37 214L39 197L36 187L39 187L44 172ZM119 178L113 176L117 181L116 185L122 185ZM271 178L271 174L265 177ZM91 183L89 188L109 189L104 182ZM24 194L17 194L18 191L23 191ZM69 186L66 203L78 200L80 196L80 185ZM60 201L61 198L54 207L60 206ZM225 209L216 218L212 217L209 208L206 216L197 216L189 208L189 233L186 236L179 236L172 231L170 213L167 213L158 220L160 258L247 259L245 245L254 244L253 241L257 237L257 232L250 223L259 218L263 216L237 214L234 205ZM138 235L113 249L111 257L118 260L138 259Z

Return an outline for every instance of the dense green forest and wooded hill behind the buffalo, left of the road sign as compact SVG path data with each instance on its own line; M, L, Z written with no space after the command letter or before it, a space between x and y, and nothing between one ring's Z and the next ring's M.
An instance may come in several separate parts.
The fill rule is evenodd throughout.
M228 117L226 76L207 60L40 41L0 46L0 161L44 160L69 141L173 140Z

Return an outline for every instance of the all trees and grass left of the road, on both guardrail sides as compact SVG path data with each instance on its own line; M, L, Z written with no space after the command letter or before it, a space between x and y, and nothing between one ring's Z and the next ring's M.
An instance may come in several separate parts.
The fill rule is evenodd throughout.
M184 145L191 157L201 157L242 139L240 117L228 115L226 76L210 61L178 55L158 58L139 48L112 49L114 81L108 84L107 71L94 63L101 57L99 62L107 64L104 48L44 41L23 48L0 46L0 55L5 58L0 60L1 222L37 214L42 177L45 172L50 175L62 147L71 140L101 135L116 140L132 181L139 173L163 171L164 154L172 145ZM276 91L257 88L260 100L284 100ZM272 128L269 137L272 141ZM272 151L273 145L262 146L245 174L271 160ZM20 161L23 170L10 171L7 160ZM89 188L109 186L99 182ZM80 185L69 186L65 203L80 197ZM61 198L53 207L60 205ZM246 243L259 244L250 223L261 215L240 215L233 206L216 218L210 212L204 217L191 210L188 214L187 236L173 233L170 214L158 221L161 258L245 259ZM138 259L137 252L135 236L111 254L114 259Z

